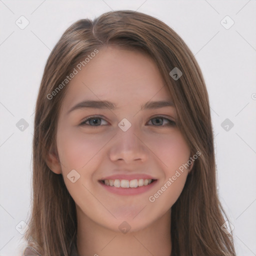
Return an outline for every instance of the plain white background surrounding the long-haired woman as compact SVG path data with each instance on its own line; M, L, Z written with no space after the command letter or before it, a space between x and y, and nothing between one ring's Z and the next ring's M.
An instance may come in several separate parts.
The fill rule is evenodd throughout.
M24 246L15 226L29 212L33 112L46 59L71 23L111 9L161 19L195 55L212 110L221 203L237 255L256 255L255 0L0 0L0 256ZM21 15L24 29L15 24ZM226 15L229 29L220 23ZM29 124L23 131L21 118ZM234 123L228 131L220 125L226 118Z

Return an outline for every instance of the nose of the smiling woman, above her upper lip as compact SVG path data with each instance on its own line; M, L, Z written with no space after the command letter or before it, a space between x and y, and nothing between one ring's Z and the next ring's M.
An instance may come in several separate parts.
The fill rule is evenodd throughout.
M118 128L109 150L110 160L124 161L125 163L131 163L135 160L146 161L148 159L148 148L145 145L145 141L140 137L135 125L131 125L126 131Z

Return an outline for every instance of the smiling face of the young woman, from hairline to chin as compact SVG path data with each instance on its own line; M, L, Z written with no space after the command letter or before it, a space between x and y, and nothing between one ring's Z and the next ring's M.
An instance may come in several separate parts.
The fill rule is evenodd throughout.
M79 216L115 231L123 220L134 231L150 225L180 195L189 169L180 166L190 155L155 63L108 46L66 89L56 135L60 164L51 169L63 175Z

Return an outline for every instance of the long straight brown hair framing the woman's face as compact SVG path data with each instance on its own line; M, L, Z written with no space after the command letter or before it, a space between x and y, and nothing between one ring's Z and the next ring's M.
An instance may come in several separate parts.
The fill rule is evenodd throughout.
M29 229L24 235L27 246L41 255L77 253L74 201L62 175L53 173L45 161L56 146L58 113L68 84L53 98L49 94L81 59L110 44L138 49L151 56L172 95L177 123L191 153L201 152L171 207L171 256L234 256L232 233L221 229L228 218L216 189L210 108L201 70L173 29L157 18L130 10L76 21L66 29L47 59L35 109L32 207ZM178 79L169 74L174 67L182 72Z

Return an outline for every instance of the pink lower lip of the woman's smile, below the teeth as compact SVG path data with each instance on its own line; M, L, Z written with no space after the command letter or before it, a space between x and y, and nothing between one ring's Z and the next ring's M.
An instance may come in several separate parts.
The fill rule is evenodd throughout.
M157 180L154 180L150 184L146 186L137 186L137 187L115 187L115 186L108 186L103 184L102 182L99 181L99 183L109 192L119 194L119 195L135 195L135 194L141 194L149 189L151 189L156 183Z

